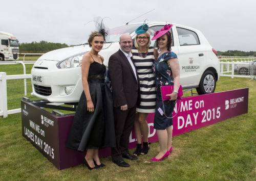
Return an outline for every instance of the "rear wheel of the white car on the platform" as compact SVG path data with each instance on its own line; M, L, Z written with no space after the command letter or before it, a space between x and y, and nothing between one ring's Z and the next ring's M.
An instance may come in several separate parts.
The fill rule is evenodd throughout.
M198 94L209 94L214 93L216 88L216 77L214 73L207 70L203 73L199 87L197 88Z

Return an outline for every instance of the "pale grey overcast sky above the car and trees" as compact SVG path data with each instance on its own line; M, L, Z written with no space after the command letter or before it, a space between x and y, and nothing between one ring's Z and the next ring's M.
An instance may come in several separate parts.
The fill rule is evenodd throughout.
M1 3L0 31L20 43L74 45L95 30L93 22L86 24L94 17L111 18L104 22L114 28L151 11L131 23L147 19L187 25L200 30L216 50L256 51L255 10L254 0L12 0Z

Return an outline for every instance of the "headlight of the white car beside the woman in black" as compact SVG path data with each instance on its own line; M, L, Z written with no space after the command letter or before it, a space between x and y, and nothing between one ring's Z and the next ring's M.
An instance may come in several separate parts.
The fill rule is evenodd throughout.
M73 68L81 65L82 57L86 52L74 55L57 63L58 68Z

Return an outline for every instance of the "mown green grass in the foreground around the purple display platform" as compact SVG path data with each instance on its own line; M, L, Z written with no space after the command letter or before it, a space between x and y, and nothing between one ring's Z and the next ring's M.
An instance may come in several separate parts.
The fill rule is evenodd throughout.
M174 137L174 150L162 162L150 162L159 151L159 143L152 143L148 154L127 161L129 168L106 157L101 169L78 165L58 170L22 136L20 114L1 118L0 180L255 180L256 81L249 80L221 77L216 88L219 92L249 87L248 114Z

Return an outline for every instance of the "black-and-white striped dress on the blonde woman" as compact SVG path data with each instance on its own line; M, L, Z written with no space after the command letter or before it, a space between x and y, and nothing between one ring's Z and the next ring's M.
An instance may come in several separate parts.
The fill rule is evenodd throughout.
M155 113L156 111L156 83L155 74L152 70L154 58L154 48L148 48L148 54L145 58L138 56L138 50L133 47L133 60L140 79L140 100L136 112Z

